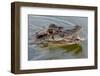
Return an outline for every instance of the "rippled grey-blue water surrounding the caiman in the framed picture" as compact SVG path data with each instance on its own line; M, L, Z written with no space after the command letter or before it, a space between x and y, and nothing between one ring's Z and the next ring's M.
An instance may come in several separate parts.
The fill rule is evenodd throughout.
M85 40L80 43L81 53L73 55L61 49L41 48L33 43L33 34L37 31L47 28L51 23L71 29L75 25L82 26L80 37ZM74 16L40 16L28 15L28 60L50 60L50 59L75 59L88 57L88 18Z

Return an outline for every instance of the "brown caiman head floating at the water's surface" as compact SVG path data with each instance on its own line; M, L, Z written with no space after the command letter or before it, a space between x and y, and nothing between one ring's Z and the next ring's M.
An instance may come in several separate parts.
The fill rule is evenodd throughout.
M80 30L81 26L79 25L76 25L73 29L69 30L64 30L61 27L59 29L56 25L55 27L49 26L49 28L46 31L40 31L40 33L36 34L35 42L40 44L46 43L47 45L50 44L56 46L79 44L80 41L83 40L79 37Z

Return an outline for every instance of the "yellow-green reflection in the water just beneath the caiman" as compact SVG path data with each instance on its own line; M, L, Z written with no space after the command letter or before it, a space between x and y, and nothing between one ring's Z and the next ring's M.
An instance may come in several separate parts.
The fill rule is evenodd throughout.
M72 45L47 45L47 44L42 44L41 48L48 48L51 51L55 51L55 50L62 50L64 51L64 53L70 53L72 52L73 55L77 55L80 54L82 52L82 46L80 44L72 44Z

